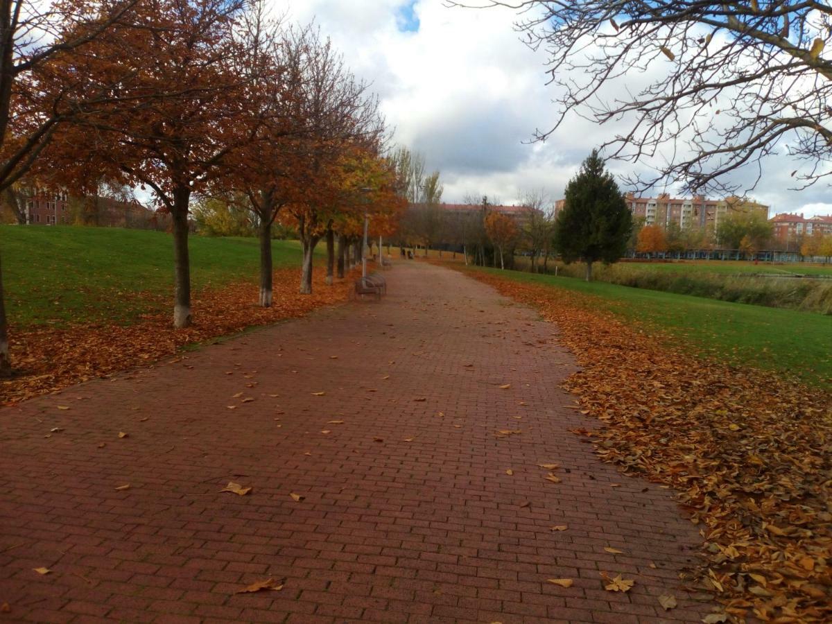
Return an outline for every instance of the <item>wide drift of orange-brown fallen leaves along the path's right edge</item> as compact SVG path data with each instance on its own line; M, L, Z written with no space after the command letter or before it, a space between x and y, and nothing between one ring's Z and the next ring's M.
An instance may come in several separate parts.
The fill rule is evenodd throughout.
M470 275L557 324L582 366L565 386L604 423L575 433L622 472L676 489L704 538L695 582L726 617L832 621L829 394L697 359L588 295Z

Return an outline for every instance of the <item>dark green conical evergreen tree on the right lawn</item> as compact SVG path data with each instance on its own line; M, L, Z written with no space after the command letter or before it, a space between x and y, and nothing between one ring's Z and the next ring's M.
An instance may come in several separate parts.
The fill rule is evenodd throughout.
M597 150L567 185L566 205L557 216L557 247L567 264L581 260L592 280L592 263L617 262L626 251L632 215Z

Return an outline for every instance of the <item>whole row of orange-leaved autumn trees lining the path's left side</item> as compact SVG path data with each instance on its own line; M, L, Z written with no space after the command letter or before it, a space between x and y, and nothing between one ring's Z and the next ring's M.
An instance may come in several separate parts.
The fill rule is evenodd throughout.
M78 195L102 182L151 191L171 215L174 324L191 324L191 201L253 216L260 305L271 232L303 245L300 290L325 238L339 274L368 215L389 234L404 206L378 100L314 27L265 0L62 0L0 5L0 192L24 182ZM0 278L0 374L8 374Z

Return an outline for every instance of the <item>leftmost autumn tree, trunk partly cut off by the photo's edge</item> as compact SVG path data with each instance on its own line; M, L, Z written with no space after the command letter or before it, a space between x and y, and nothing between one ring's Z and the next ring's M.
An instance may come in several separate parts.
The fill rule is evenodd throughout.
M26 175L58 126L111 101L123 74L111 72L92 88L91 77L54 67L119 27L135 3L0 2L0 194ZM11 373L0 266L0 377Z

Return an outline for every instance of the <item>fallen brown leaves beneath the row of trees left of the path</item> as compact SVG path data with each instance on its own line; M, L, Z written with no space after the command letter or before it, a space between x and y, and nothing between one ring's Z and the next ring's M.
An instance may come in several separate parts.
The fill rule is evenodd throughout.
M139 323L72 324L66 328L33 327L11 331L12 363L17 376L0 382L0 402L13 403L121 370L169 358L186 344L235 334L253 325L275 323L347 299L349 280L325 285L314 280L314 295L300 295L300 270L275 271L271 308L257 305L256 285L241 283L205 290L191 302L195 324L173 329L172 305L156 300L158 310ZM150 296L150 295L148 295Z

